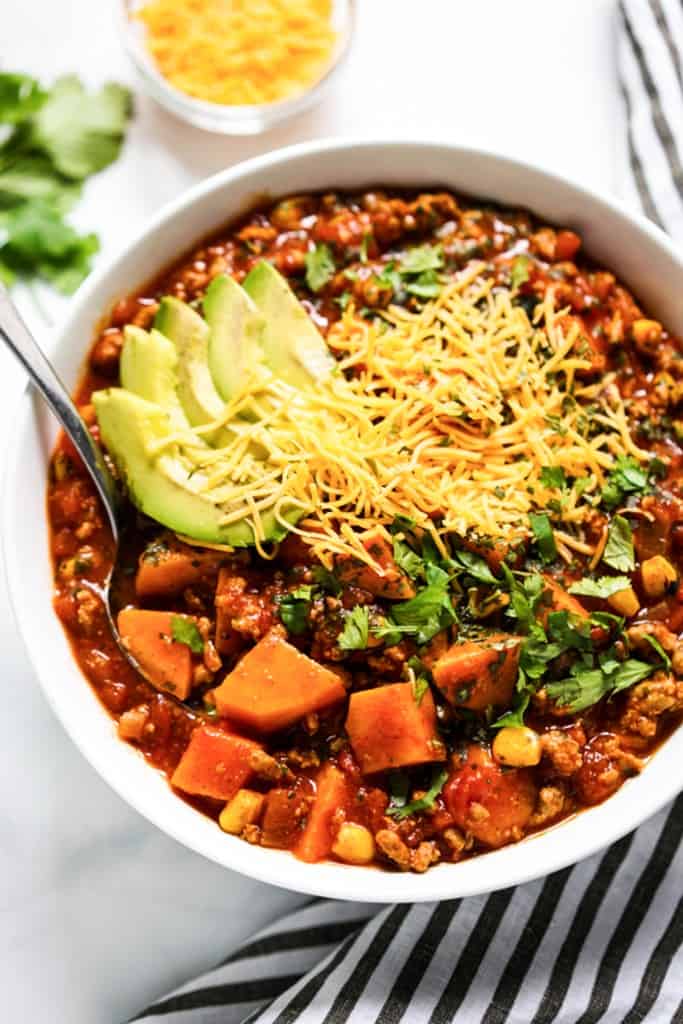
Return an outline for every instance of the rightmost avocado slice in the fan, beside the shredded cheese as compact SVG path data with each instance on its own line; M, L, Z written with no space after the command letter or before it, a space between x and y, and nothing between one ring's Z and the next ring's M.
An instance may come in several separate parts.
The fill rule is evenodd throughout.
M261 344L275 377L301 390L327 377L334 356L285 278L261 260L243 287L265 319Z

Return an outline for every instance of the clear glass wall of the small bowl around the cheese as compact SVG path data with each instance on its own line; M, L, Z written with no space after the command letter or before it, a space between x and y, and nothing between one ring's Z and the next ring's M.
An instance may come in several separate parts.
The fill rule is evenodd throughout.
M176 117L197 128L223 135L258 135L317 103L350 50L355 27L355 0L335 0L332 25L337 33L337 42L323 77L291 99L249 106L229 106L195 99L176 89L160 74L145 46L144 26L132 16L133 11L143 4L144 0L121 0L119 3L121 37L143 86L157 102Z

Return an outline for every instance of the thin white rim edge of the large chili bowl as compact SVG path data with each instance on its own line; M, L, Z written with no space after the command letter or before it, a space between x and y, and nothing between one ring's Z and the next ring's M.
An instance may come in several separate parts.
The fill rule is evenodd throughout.
M614 217L622 218L626 220L627 224L635 226L639 232L647 236L654 246L661 251L663 255L683 274L683 258L681 254L676 250L664 231L651 221L648 221L643 215L631 211L620 201L604 197L583 183L540 167L538 164L515 160L492 150L459 146L425 139L390 138L373 141L370 139L335 138L312 140L275 150L263 156L254 157L248 161L239 163L199 182L170 203L167 203L137 231L132 233L130 241L124 247L97 267L79 289L72 300L70 311L65 317L63 323L51 337L51 344L47 346L49 354L69 344L78 317L88 309L92 297L106 284L108 279L116 272L117 268L125 263L135 248L141 243L148 241L163 225L172 222L176 217L186 214L201 200L210 197L213 193L219 191L231 183L248 181L250 176L256 172L269 171L280 166L287 166L290 162L296 162L302 158L311 158L326 153L339 154L341 157L350 150L360 150L367 154L373 153L377 155L378 151L392 147L424 152L425 158L429 151L440 151L441 153L445 151L454 159L458 156L471 160L482 159L506 167L511 172L540 175L547 182L554 183L561 189L566 190L568 188L569 191L572 191L577 196L579 201L589 201L590 203L597 204ZM378 177L381 178L381 174ZM334 187L334 184L331 184L330 187ZM276 196L278 194L278 188L275 187L273 195ZM189 244L193 243L190 242ZM96 323L96 317L92 318L92 323ZM83 359L85 358L86 351L87 348L84 346ZM133 807L146 817L147 820L152 821L153 824L160 827L162 831L170 835L188 849L206 856L208 859L222 866L229 867L258 881L311 895L377 903L422 902L490 892L496 889L523 884L564 868L569 864L591 856L637 827L670 800L673 800L683 787L683 776L680 776L680 773L675 771L669 773L660 771L656 773L651 770L661 754L663 748L659 748L645 772L627 782L604 804L582 811L572 818L530 836L520 843L481 854L460 864L437 865L422 876L412 873L397 874L389 871L371 870L368 867L351 867L332 861L324 861L319 864L306 864L298 861L287 851L251 847L241 840L233 840L232 837L227 837L219 833L215 822L188 807L188 805L184 804L175 795L173 796L173 800L175 805L177 805L177 811L172 811L170 814L166 813L163 809L160 811L154 801L148 799L148 796L145 797L138 793L134 786L131 786L126 780L117 775L110 764L112 758L108 754L109 748L106 750L99 749L92 737L88 735L87 730L79 728L75 721L73 721L73 716L68 711L66 702L62 702L59 697L57 687L48 679L49 673L41 671L41 666L39 665L40 658L32 649L32 638L30 636L31 615L26 614L27 605L26 602L23 602L22 598L20 579L24 563L20 545L13 543L15 532L14 521L17 511L12 502L14 492L12 481L18 479L23 473L26 473L18 439L27 435L27 432L31 429L31 420L36 415L35 403L38 401L39 399L33 395L31 386L27 386L14 421L14 430L10 435L7 446L2 479L2 494L0 495L4 574L17 632L24 641L29 662L33 666L41 689L71 739L86 760L129 806ZM44 486L44 476L41 477L41 486ZM91 698L96 701L99 714L111 722L112 719L109 713L94 695L94 691L83 676L75 658L73 659L73 670L78 675L79 681L84 687L83 703L87 702L87 694L89 693ZM683 741L683 736L681 736L681 741ZM148 773L153 772L151 766L143 762L138 752L130 748L129 744L123 743L118 737L115 737L115 742L122 748L127 748L132 757L139 761L144 771ZM672 739L670 738L665 741L663 746L668 746L671 742ZM649 775L648 772L650 773ZM652 784L655 775L657 784ZM652 783L649 781L650 778ZM168 788L166 780L161 779L161 776L160 780ZM641 792L642 794L646 793L646 806L643 806L642 800L639 803L638 800L632 801L629 799L629 794L636 793L636 790L633 788L634 786L638 787L637 792L639 795ZM182 811L183 808L184 812ZM204 825L201 824L202 821L205 823ZM210 828L207 828L207 825ZM220 846L216 843L216 836L220 836ZM567 842L563 842L565 837ZM570 838L573 842L569 841ZM231 840L232 842L230 842ZM549 840L550 842L548 842ZM545 858L542 859L530 855L537 851L545 853ZM476 868L468 868L468 865L486 863L490 865L492 869L489 872L480 872ZM479 874L486 876L485 881L479 878Z

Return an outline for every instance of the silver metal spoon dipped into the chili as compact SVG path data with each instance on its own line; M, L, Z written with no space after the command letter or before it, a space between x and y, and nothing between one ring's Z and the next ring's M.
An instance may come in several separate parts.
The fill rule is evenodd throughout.
M97 587L96 590L103 601L110 628L121 653L136 672L146 678L145 673L121 639L111 604L112 582L116 577L122 534L123 498L121 489L106 466L101 447L88 430L85 420L76 408L67 388L19 316L16 307L9 298L7 289L3 285L0 285L0 338L19 360L31 381L63 427L67 436L90 474L104 506L114 538L115 557L113 567L110 569L103 586Z

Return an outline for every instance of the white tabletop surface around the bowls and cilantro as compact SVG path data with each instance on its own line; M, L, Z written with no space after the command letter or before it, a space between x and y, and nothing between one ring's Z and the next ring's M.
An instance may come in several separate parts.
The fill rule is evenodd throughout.
M614 6L359 0L349 62L321 106L266 135L230 139L188 128L138 94L122 159L88 184L75 219L99 232L106 259L195 181L325 135L479 144L613 190L624 159ZM134 84L110 0L0 0L0 69ZM63 306L52 308L58 316ZM45 327L34 327L49 345ZM0 451L12 443L22 389L0 351ZM203 860L109 790L38 688L4 580L0 650L0 1017L116 1024L301 897Z

